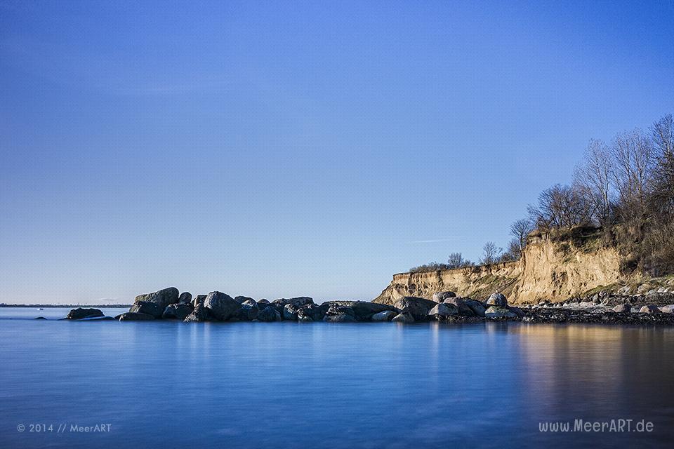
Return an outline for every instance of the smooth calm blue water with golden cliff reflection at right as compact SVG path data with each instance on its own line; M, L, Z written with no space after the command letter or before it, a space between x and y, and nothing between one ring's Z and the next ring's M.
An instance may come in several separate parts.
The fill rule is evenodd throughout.
M674 328L18 319L66 313L0 309L13 318L0 320L1 448L670 447L674 438ZM654 431L538 430L576 418L645 419ZM53 431L17 430L31 423ZM110 432L70 432L96 423Z

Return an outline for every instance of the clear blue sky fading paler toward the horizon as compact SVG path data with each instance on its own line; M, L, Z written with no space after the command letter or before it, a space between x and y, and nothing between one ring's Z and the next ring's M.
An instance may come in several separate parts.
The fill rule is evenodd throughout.
M0 302L371 300L674 112L674 2L0 0Z

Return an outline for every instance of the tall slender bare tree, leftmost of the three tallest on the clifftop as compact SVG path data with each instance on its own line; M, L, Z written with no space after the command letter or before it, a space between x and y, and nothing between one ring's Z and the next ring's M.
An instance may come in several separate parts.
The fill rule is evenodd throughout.
M590 140L581 165L576 167L574 185L586 201L593 203L597 222L604 226L611 220L613 159L609 147L601 140Z

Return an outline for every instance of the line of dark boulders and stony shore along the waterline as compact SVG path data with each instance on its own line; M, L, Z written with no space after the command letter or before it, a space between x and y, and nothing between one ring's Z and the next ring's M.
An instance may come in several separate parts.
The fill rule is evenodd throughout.
M115 318L119 321L178 320L204 321L323 321L327 323L385 322L481 323L484 321L522 321L524 323L614 323L674 324L674 305L595 304L569 302L563 305L541 302L531 307L513 307L502 293L484 300L460 297L451 291L437 292L432 300L404 296L393 304L366 301L327 301L316 304L311 297L280 298L274 301L251 297L231 297L214 291L208 295L178 293L165 288L138 295L131 309ZM110 319L98 309L73 309L67 319Z

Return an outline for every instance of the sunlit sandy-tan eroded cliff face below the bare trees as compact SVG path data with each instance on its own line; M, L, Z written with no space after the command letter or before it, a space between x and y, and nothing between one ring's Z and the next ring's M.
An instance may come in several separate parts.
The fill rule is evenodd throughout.
M517 262L395 274L374 302L393 304L403 296L431 299L433 293L447 290L476 299L498 291L517 304L563 301L621 281L620 257L613 248L573 248L539 236L529 239Z

